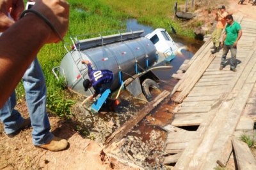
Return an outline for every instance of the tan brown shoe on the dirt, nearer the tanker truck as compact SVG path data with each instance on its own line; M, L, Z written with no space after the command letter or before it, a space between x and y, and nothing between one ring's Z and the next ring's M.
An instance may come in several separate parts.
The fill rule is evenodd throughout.
M37 147L56 152L56 151L65 150L67 146L68 146L68 141L66 139L61 139L54 136L49 143L46 143L45 145L39 145Z

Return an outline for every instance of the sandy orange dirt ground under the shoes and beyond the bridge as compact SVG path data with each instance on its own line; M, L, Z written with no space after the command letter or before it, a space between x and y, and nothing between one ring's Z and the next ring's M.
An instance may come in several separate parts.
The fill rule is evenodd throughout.
M256 20L252 3L243 5L238 0L228 0L230 13L244 15ZM207 18L207 17L205 17ZM19 103L17 109L28 117L26 104ZM82 138L72 124L60 118L49 117L52 132L56 136L68 139L69 147L62 152L49 152L33 146L31 128L20 132L15 138L8 138L0 125L0 169L136 169L121 162L100 156L103 145L90 139Z

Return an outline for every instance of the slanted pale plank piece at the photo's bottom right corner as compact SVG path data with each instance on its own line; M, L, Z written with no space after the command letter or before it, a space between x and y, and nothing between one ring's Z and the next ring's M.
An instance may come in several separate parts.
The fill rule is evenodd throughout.
M238 169L256 169L256 160L253 157L250 148L248 148L248 145L236 138L232 139L232 145L234 147Z

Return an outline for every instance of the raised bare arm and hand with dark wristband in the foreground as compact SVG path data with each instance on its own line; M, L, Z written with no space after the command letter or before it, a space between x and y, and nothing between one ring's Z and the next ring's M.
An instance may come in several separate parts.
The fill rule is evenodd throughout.
M65 35L69 13L65 0L38 0L33 9L48 18L61 36ZM49 25L33 13L28 13L15 22L0 36L0 108L13 92L40 48L45 43L58 41L60 39Z

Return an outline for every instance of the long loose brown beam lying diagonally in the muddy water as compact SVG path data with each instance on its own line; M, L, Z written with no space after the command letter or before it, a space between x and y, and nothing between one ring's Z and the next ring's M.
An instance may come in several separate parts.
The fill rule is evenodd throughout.
M167 92L166 90L161 92L161 94L159 94L153 101L148 103L142 110L138 111L136 116L127 120L122 127L113 132L113 134L106 139L106 147L110 146L111 143L122 139L123 136L131 131L134 125L138 124L148 113L150 113L150 111L156 108L156 106L167 97L170 97L170 92Z

